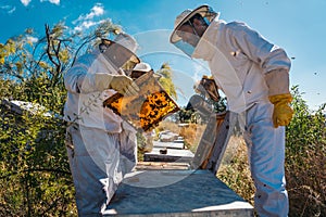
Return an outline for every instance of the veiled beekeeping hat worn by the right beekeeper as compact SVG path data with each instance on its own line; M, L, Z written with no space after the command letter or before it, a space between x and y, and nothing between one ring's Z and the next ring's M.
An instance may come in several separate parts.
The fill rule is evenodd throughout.
M187 22L189 22L190 26L192 26L192 24L189 20L196 14L200 14L203 17L203 20L206 22L208 25L210 25L210 23L216 16L218 16L218 13L216 13L209 5L201 5L195 10L187 9L176 17L175 23L174 23L174 30L170 37L170 42L173 43L178 49L180 49L183 52L185 52L190 58L193 53L195 47L183 40L183 38L180 37L180 35L183 33L179 30L179 28ZM193 26L192 26L192 28L193 28ZM196 33L196 30L195 30L195 33Z

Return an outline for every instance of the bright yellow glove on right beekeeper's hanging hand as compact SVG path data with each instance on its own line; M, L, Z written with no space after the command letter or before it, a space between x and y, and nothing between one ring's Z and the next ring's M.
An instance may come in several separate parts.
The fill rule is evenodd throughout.
M289 125L293 115L293 110L289 105L292 101L292 95L290 93L271 95L269 101L274 104L274 127Z

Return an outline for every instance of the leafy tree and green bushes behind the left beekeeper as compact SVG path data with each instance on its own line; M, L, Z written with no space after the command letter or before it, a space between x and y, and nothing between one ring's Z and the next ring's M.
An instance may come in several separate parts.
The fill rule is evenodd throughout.
M76 215L60 118L63 74L101 37L118 31L110 21L87 33L59 23L46 25L38 40L27 29L0 44L0 216ZM28 102L33 110L13 112L10 100Z

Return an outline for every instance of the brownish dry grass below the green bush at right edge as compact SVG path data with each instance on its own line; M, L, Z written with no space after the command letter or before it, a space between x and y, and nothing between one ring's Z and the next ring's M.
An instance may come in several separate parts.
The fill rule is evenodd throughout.
M326 216L325 148L287 156L286 175L291 216Z

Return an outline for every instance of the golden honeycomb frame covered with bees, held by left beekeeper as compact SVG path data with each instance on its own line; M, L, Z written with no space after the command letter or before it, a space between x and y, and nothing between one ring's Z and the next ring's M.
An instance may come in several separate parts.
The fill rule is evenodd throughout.
M130 123L136 129L149 131L167 115L179 110L177 103L167 94L153 72L135 79L139 87L137 95L124 97L115 93L103 102L104 107Z

